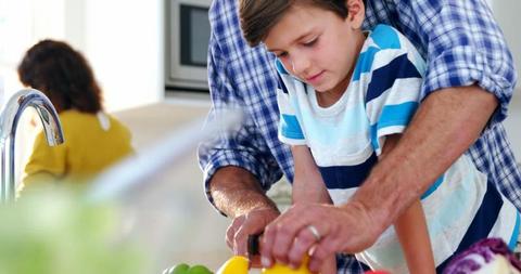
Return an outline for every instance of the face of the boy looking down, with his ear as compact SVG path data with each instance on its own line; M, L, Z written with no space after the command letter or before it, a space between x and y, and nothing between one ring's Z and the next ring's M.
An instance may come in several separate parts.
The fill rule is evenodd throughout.
M264 43L288 71L316 91L343 93L365 40L360 31L364 6L348 9L344 19L332 11L295 3L270 29Z

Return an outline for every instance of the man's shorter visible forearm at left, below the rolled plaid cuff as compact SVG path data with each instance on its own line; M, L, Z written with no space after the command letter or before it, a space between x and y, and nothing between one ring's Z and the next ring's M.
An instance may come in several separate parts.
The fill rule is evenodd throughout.
M258 185L256 178L239 167L218 169L209 182L215 206L230 218L250 212L252 209L277 206Z

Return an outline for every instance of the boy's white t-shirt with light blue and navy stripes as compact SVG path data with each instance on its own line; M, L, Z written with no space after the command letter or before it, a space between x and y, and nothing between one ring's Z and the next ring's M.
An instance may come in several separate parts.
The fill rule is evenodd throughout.
M402 133L422 96L425 63L396 29L378 25L367 37L351 82L329 107L315 90L276 61L279 139L307 145L335 205L344 204L378 161L385 136ZM513 245L519 217L510 201L461 156L422 196L436 266L484 237ZM373 269L406 273L393 227L357 258Z

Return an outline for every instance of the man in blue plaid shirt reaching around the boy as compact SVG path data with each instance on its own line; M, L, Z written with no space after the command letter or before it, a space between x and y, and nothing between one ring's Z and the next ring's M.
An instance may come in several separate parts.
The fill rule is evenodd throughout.
M428 73L424 99L409 128L345 206L351 221L342 229L353 236L342 240L343 251L370 246L463 153L521 209L521 174L501 125L516 73L485 1L368 0L366 6L365 28L378 23L396 27L428 61ZM203 145L200 159L209 200L233 218L228 245L245 255L247 235L264 231L279 216L265 191L282 172L293 180L291 153L277 139L274 56L242 39L236 0L214 1L209 18L209 118L229 105L242 106L249 118L236 134ZM275 227L269 233L288 240L301 229ZM329 229L318 233L312 269L338 248L328 240ZM314 237L312 232L307 236ZM275 258L300 263L301 258L288 256L288 245L274 249ZM339 263L339 272L360 271L354 260Z

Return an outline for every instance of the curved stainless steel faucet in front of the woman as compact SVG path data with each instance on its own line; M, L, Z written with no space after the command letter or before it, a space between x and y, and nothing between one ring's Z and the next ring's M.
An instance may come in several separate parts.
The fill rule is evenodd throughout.
M20 117L29 106L35 108L40 117L47 143L50 146L54 146L64 142L62 126L56 109L54 109L51 101L43 93L34 89L24 89L11 96L0 115L0 149L2 160L0 170L0 172L2 172L0 200L2 203L12 201L15 198L14 144L16 140L16 128Z

